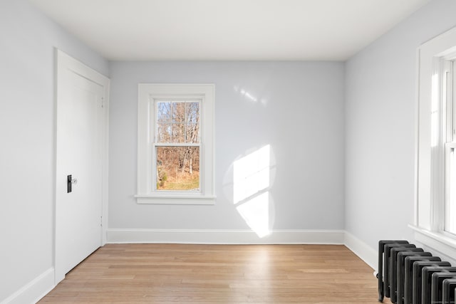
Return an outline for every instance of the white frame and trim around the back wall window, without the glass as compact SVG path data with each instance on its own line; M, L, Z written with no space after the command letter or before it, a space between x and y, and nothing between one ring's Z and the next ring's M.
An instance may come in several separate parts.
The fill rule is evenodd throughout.
M138 85L138 204L214 204L214 92L213 84ZM200 100L199 191L163 191L154 185L152 155L155 140L155 100Z

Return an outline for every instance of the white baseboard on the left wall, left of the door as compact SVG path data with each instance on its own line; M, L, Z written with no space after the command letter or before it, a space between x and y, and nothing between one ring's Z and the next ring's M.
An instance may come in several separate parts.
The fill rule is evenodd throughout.
M0 304L36 303L54 287L54 268L52 267L17 290L16 293L2 300Z

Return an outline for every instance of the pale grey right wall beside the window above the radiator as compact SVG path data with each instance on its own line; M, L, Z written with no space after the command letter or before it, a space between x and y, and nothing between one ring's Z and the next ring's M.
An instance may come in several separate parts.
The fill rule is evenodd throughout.
M416 49L456 26L435 0L346 63L346 231L376 250L413 234Z

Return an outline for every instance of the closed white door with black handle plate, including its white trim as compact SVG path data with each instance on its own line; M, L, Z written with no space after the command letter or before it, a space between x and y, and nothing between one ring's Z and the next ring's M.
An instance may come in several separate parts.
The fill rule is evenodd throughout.
M103 243L105 95L82 63L58 51L57 64L56 283Z

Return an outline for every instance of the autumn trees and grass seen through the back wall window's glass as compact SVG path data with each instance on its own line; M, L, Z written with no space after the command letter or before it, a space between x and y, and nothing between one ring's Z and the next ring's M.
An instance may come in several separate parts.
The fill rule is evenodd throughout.
M157 190L199 190L199 101L156 103Z

